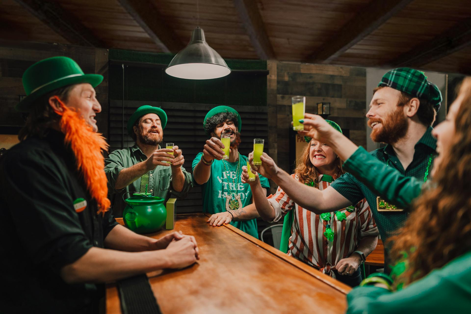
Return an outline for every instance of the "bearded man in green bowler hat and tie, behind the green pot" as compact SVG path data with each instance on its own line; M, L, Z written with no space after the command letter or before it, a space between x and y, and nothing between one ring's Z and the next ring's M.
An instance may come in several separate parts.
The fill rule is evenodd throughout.
M123 193L149 193L165 200L187 196L193 182L191 174L182 167L185 159L181 149L177 145L171 149L160 146L166 125L167 114L163 109L140 106L127 125L135 145L115 150L105 160L114 216L122 217L126 207Z

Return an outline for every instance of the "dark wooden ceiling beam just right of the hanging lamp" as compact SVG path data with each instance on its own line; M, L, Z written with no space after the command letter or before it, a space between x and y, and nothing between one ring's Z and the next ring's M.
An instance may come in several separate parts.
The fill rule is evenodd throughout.
M234 0L234 5L259 58L262 60L276 59L257 1Z

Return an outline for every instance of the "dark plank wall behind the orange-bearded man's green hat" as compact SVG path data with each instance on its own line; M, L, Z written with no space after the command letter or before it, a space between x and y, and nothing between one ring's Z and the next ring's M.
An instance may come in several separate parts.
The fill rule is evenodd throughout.
M106 49L57 44L21 43L0 40L0 126L23 126L24 119L14 106L25 96L22 76L32 64L51 56L74 59L84 73L105 77L95 89L102 111L97 114L100 132L108 136L108 51Z

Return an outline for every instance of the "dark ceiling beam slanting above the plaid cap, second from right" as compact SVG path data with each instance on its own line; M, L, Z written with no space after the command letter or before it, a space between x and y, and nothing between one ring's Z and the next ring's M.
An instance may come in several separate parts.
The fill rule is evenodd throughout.
M373 0L350 19L339 32L332 36L316 52L309 55L308 62L331 63L349 48L380 27L384 22L406 7L413 0Z

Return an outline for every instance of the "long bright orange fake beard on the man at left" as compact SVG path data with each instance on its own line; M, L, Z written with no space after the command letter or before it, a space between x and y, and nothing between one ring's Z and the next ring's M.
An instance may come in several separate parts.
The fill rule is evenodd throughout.
M108 151L108 144L101 133L95 132L85 120L68 108L54 96L63 111L57 112L61 115L60 129L65 134L64 143L70 145L75 155L75 165L83 177L90 196L97 201L97 213L105 213L111 205L108 200L108 186L105 175L105 159L102 151Z

